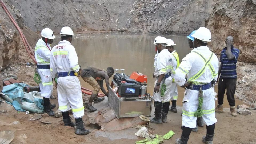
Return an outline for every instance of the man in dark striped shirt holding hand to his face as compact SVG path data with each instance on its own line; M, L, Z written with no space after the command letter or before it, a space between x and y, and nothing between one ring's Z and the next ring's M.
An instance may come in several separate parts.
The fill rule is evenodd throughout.
M218 106L215 112L223 112L223 98L227 89L227 100L230 105L230 113L232 116L237 116L235 112L235 88L237 84L236 64L239 56L239 50L233 47L234 38L228 36L225 41L227 47L221 51L221 65L217 78L218 84Z

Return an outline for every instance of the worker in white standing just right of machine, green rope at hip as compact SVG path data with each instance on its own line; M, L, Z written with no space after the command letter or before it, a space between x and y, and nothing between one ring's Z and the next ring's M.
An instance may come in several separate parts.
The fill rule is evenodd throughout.
M167 123L167 114L170 106L171 73L174 67L174 57L166 49L167 39L156 37L154 45L158 54L154 62L154 76L156 77L153 100L155 106L155 117L150 121L152 123ZM163 113L161 112L163 105Z

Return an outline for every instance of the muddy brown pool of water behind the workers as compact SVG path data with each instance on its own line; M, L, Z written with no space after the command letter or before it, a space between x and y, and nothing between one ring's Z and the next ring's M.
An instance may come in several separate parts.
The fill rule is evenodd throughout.
M81 34L75 35L72 45L78 54L79 65L82 68L86 66L96 66L102 69L113 67L114 69L125 69L124 73L130 75L134 71L139 71L148 76L147 92L152 94L154 89L154 79L152 73L154 71L153 63L155 57L155 45L153 41L156 34ZM173 39L174 48L179 54L181 62L191 49L187 44L187 38L184 35L160 35ZM56 44L58 40L54 41ZM54 45L53 44L53 45ZM121 71L118 71L121 73ZM83 87L93 89L90 85L83 81L80 77ZM112 78L110 78L112 79ZM105 86L105 84L104 84ZM106 87L106 86L105 86ZM218 92L217 85L215 92ZM178 87L179 98L177 105L181 106L184 89ZM236 105L243 102L236 99ZM216 101L217 105L217 101ZM227 98L224 98L224 107L229 107Z

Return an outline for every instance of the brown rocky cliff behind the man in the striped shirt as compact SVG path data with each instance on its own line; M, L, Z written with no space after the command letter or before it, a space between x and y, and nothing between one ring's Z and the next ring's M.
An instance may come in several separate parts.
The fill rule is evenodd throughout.
M234 46L240 50L239 61L256 63L256 0L219 1L206 21L211 30L210 47L220 54L225 39L234 37Z

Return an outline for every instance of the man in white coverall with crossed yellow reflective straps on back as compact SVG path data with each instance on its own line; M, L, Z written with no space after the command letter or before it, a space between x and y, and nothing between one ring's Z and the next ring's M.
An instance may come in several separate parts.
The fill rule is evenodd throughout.
M206 137L202 141L213 143L215 123L215 93L213 85L218 76L218 58L206 46L211 41L211 32L200 27L192 35L194 49L185 58L176 70L175 82L186 87L182 107L181 138L176 139L176 144L186 144L192 128L196 127L197 117L203 117L206 123ZM186 77L187 75L187 82Z

